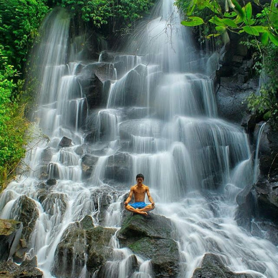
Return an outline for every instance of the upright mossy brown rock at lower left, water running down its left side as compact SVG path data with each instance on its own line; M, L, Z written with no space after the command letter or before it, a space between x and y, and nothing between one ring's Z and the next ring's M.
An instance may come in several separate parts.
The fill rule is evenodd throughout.
M25 195L20 196L12 207L11 216L23 223L22 238L28 242L39 217L35 201Z

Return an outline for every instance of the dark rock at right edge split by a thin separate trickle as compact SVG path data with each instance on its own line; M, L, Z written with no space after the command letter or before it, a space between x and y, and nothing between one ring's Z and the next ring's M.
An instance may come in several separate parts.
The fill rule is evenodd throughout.
M264 122L259 122L254 128L254 144L256 144L258 132ZM278 175L278 132L274 131L269 123L263 127L259 142L259 169L261 175L271 177ZM277 156L276 156L277 155Z

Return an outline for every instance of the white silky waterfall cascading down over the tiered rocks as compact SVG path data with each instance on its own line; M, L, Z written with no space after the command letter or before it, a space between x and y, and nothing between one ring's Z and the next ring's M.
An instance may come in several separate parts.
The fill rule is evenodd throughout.
M276 247L249 236L233 219L235 197L253 179L247 135L217 118L206 71L211 59L195 52L173 1L160 1L121 54L111 54L112 62L101 54L93 63L108 64L112 74L106 105L92 117L87 117L87 100L78 81L82 71L77 67L82 63L70 61L66 66L69 22L63 10L51 14L37 50L41 86L34 119L50 142L32 142L25 159L30 165L27 177L13 181L0 198L1 218L17 219L20 196L35 201L39 216L28 255L36 255L45 276L51 277L55 250L72 222L91 215L95 225L118 229L124 194L141 172L156 201L154 213L173 223L180 277L191 277L202 256L213 252L232 271L274 278ZM92 121L94 142L84 144L82 128ZM63 136L73 144L61 148ZM84 153L95 161L87 180L82 177ZM121 173L126 174L124 185L111 167L117 155L131 172ZM42 180L47 178L56 178L57 184L42 195ZM104 193L110 205L103 212ZM86 245L86 240L80 244ZM116 235L110 247L114 251L102 269L105 276L130 275L132 252L120 248ZM132 277L151 277L151 262L140 257L138 262L139 271ZM80 272L74 265L72 277L89 275L86 259Z

